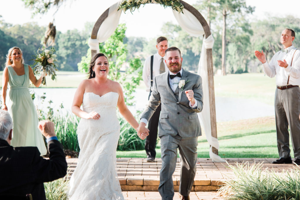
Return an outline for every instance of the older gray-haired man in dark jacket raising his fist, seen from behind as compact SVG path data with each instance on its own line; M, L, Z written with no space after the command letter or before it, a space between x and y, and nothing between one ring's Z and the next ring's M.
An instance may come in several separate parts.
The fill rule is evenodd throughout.
M0 110L0 199L25 199L27 194L31 194L32 199L46 199L43 183L67 173L67 162L54 124L50 121L38 124L47 139L49 160L40 156L37 147L10 146L12 127L8 112Z

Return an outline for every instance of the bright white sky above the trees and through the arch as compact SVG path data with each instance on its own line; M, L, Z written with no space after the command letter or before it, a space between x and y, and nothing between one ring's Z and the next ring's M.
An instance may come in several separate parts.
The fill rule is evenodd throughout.
M61 32L67 30L82 30L85 22L95 23L101 14L118 0L67 0L61 5L53 18L54 9L45 15L32 18L30 9L25 8L21 0L0 0L0 15L2 20L11 24L37 22L47 26L55 19L56 29ZM192 5L198 0L185 0ZM300 18L300 0L246 0L247 6L255 6L251 20L265 19L268 16L293 15ZM164 9L161 5L146 4L131 14L122 13L120 23L126 23L126 36L153 38L161 33L165 22L177 23L170 8ZM203 15L204 16L204 15ZM204 16L205 18L205 16Z

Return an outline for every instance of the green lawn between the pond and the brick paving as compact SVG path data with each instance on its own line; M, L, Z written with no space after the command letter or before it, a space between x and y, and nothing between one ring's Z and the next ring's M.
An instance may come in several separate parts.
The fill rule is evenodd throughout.
M219 156L222 158L278 157L274 117L217 123L217 132L220 144ZM209 144L204 133L198 137L197 148L199 158L209 158ZM160 144L157 145L156 153L156 157L161 157ZM291 156L293 155L291 149ZM117 157L146 157L146 153L118 151Z

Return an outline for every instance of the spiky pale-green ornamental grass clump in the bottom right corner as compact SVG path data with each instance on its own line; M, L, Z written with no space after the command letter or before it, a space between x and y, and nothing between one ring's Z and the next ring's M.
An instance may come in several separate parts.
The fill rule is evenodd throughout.
M228 163L227 163L228 164ZM229 165L234 177L224 181L219 195L225 199L238 200L298 200L300 199L300 168L276 172L263 169L262 163Z

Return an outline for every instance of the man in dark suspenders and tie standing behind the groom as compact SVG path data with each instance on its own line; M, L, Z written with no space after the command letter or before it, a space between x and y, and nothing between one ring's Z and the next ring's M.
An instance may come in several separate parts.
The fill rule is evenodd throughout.
M149 97L152 92L153 79L156 75L167 72L168 67L165 62L165 50L168 48L168 40L166 37L159 37L156 40L157 53L149 56L145 60L143 68L143 81L146 84L146 91L149 91ZM148 97L148 100L149 100ZM155 113L148 122L149 136L146 137L145 150L147 154L147 162L153 162L156 156L155 146L158 132L158 121L161 113L161 105L158 106Z

